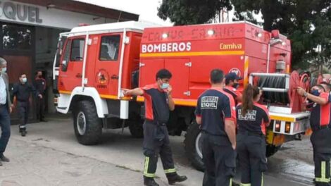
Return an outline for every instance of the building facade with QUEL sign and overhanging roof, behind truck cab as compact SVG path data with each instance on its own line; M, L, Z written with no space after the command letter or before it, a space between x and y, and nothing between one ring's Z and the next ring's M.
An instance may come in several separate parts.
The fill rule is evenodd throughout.
M54 113L51 72L58 34L82 23L96 25L139 18L109 7L74 0L0 0L0 56L8 61L10 86L19 81L22 73L32 83L36 71L42 70L48 84L46 111ZM31 99L30 118L35 118L33 103ZM17 114L14 111L12 115L15 123Z

